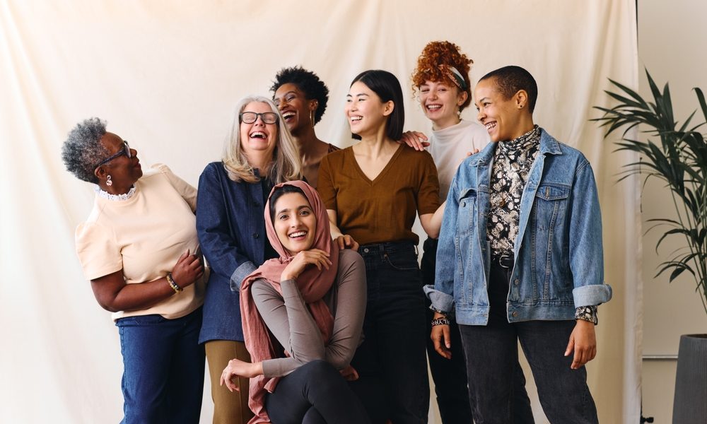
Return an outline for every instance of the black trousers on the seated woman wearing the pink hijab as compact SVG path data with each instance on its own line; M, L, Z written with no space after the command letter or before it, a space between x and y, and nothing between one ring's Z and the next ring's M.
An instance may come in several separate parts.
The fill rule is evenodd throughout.
M273 424L370 423L344 377L325 360L314 360L282 377L265 396Z

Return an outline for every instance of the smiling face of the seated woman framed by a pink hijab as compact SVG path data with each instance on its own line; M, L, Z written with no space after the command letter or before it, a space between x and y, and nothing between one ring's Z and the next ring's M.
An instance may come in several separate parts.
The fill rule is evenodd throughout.
M273 227L283 247L294 256L314 244L317 217L305 196L286 193L275 202Z

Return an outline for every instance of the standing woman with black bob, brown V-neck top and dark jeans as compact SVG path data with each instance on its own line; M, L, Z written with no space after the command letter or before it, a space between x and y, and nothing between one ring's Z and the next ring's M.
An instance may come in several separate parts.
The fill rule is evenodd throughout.
M419 214L425 232L438 235L437 170L429 153L397 143L404 108L392 73L360 73L346 99L346 119L360 141L322 160L318 189L332 235L360 244L366 263L365 340L352 365L361 378L382 379L392 422L426 423L425 305L412 225Z

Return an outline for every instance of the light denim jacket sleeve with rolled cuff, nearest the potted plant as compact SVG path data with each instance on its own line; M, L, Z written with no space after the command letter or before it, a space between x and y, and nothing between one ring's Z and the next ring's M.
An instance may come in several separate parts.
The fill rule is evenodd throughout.
M569 255L575 307L601 305L611 300L612 288L604 284L602 212L588 162L578 167L571 200Z

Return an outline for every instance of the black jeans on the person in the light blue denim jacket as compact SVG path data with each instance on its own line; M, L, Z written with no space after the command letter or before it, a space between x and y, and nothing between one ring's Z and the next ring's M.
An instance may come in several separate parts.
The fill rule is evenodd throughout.
M572 355L564 356L575 322L508 323L506 299L510 269L491 265L489 324L460 325L467 354L469 396L476 405L477 424L525 423L518 420L518 341L530 364L542 409L550 423L598 423L597 408L587 387L587 370L571 370ZM530 408L530 404L527 405ZM512 418L513 417L513 418Z

